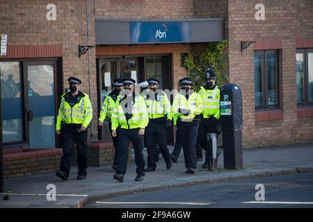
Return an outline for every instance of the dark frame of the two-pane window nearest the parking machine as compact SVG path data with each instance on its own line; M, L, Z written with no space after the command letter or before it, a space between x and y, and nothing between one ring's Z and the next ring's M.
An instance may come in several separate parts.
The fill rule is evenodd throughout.
M276 74L276 99L277 105L268 105L268 78L267 78L267 57L268 55L275 55L275 74ZM264 110L280 110L280 88L279 88L279 61L280 61L280 53L278 50L257 50L254 51L253 61L255 56L262 56L262 96L263 96L263 105L256 106L256 111L264 111ZM254 65L253 65L254 67Z

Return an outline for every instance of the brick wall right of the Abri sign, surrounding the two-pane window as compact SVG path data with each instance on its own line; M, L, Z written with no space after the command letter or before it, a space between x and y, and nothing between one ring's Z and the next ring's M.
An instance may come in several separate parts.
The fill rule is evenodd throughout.
M313 118L298 118L296 106L296 39L313 38L312 1L262 1L266 20L255 20L259 1L228 1L230 40L230 82L238 84L243 93L244 146L286 144L313 139ZM240 51L240 41L259 44ZM279 40L281 44L266 44ZM279 42L278 41L278 42ZM273 41L272 41L273 43ZM257 45L262 46L257 46ZM257 46L257 47L256 47ZM255 112L253 53L257 49L280 50L280 110L282 118L259 120ZM262 118L261 118L262 119Z

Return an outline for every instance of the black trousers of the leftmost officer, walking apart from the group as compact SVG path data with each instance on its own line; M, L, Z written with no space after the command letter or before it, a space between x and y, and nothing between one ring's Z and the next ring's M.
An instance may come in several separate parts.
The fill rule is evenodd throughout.
M77 144L77 164L79 175L87 175L88 167L88 130L79 132L80 128L66 126L63 130L63 156L60 170L70 175L74 144Z

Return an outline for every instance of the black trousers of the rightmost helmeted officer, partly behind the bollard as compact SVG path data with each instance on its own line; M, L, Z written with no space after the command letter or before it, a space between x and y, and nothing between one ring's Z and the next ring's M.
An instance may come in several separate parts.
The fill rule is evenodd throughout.
M218 121L209 121L209 119L202 119L200 121L199 126L199 135L198 135L198 144L200 149L204 149L207 151L207 134L208 133L215 133L218 134ZM200 151L199 151L200 152ZM202 156L202 152L201 152ZM207 153L205 155L207 157Z

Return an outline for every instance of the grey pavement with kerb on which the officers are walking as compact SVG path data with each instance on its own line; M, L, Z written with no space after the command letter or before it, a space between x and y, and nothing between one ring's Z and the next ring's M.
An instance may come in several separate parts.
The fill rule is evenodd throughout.
M172 151L172 147L169 146L169 149ZM224 170L223 150L220 151L216 172L200 169L203 162L198 162L195 174L186 174L184 155L181 153L178 162L173 163L169 170L166 169L161 157L157 163L157 170L145 173L143 182L134 181L136 178L134 153L131 164L127 167L125 182L113 180L114 171L111 167L89 167L86 180L77 180L76 166L72 167L70 178L65 181L57 178L54 173L6 179L5 191L0 193L0 207L83 207L92 200L136 192L313 171L313 143L245 148L241 170ZM55 201L47 200L47 194L50 196L47 185L55 185ZM6 195L9 200L3 200Z

